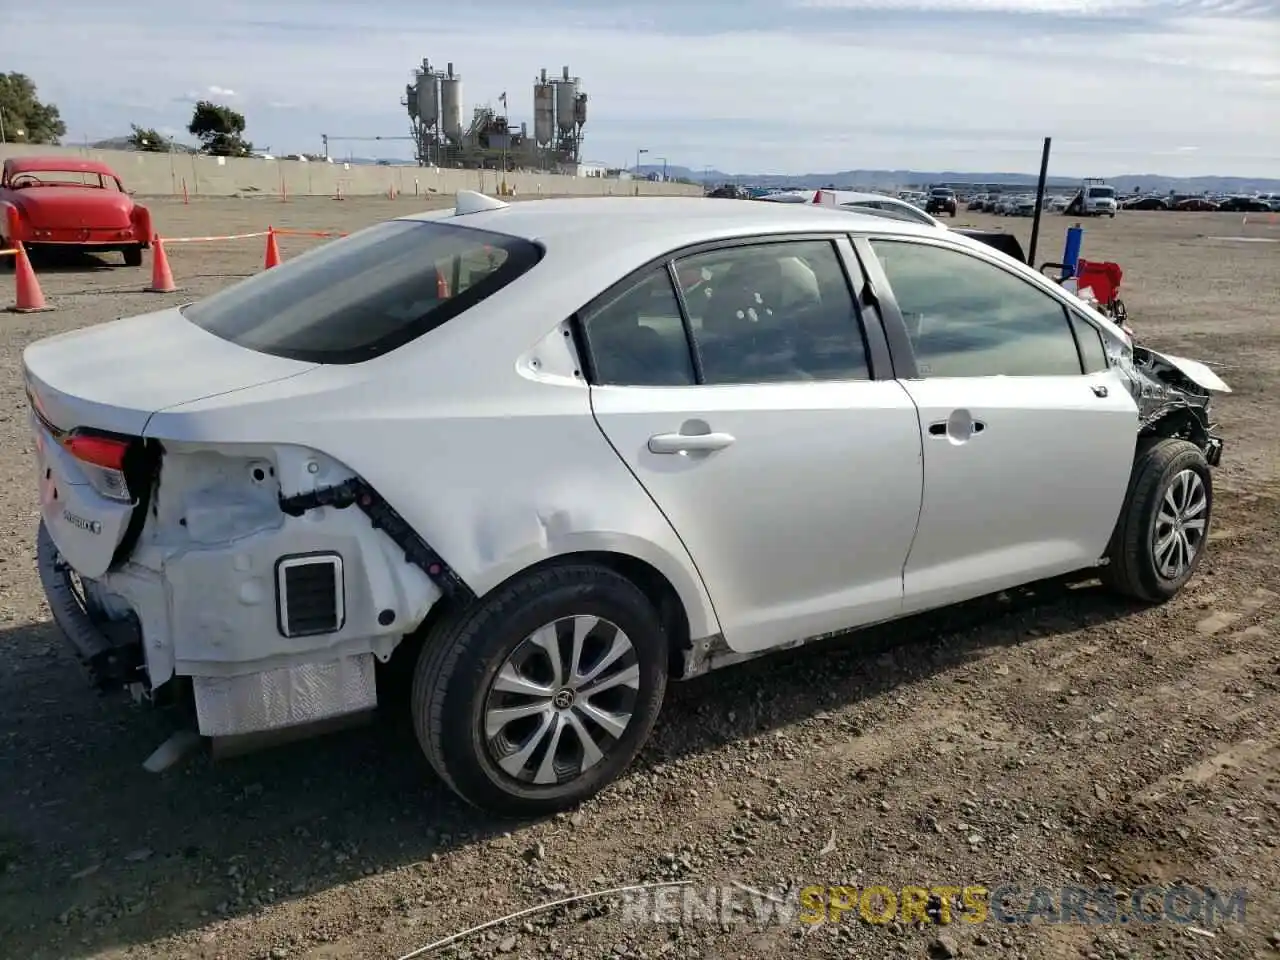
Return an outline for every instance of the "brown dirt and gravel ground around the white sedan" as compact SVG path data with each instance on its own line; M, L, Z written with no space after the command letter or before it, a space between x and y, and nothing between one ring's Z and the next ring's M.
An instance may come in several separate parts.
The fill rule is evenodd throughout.
M352 229L412 201L156 202L168 236ZM166 717L99 698L33 566L22 396L33 339L218 289L261 239L173 244L142 270L50 266L54 312L0 315L0 955L399 957L571 893L660 879L786 884L1187 883L1248 890L1219 924L640 923L616 899L431 956L1251 957L1280 955L1280 225L1123 214L1085 255L1125 268L1138 337L1220 364L1212 549L1147 609L1096 585L932 614L676 685L622 782L572 815L463 808L390 718L256 755L141 768ZM1029 220L1000 224L1025 244ZM1046 219L1039 260L1070 221ZM292 256L319 241L285 238ZM12 275L0 275L0 302ZM1087 465L1064 463L1064 470ZM750 897L741 900L750 904Z

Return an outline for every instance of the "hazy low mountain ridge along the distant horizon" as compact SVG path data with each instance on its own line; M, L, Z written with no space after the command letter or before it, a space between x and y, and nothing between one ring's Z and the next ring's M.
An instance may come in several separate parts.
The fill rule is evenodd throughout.
M639 175L662 174L663 166L658 164L641 164ZM838 173L805 173L805 174L731 174L721 170L692 170L687 166L666 166L666 174L671 179L690 179L704 183L741 183L754 187L777 187L780 189L818 189L827 187L831 189L891 189L904 187L923 187L931 183L989 183L1001 186L1019 186L1034 188L1037 175L1029 173L959 173L955 170L927 172L927 170L840 170ZM1157 174L1139 173L1108 177L1107 183L1121 193L1272 193L1280 192L1280 180L1257 177L1161 177ZM1065 177L1050 177L1050 187L1071 188L1080 184L1079 179Z

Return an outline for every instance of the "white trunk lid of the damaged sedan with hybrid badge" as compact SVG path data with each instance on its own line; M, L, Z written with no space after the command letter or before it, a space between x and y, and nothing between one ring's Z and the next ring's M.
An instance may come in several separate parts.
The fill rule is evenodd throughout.
M150 492L150 471L141 468L140 475L136 465L146 462L141 438L154 413L298 376L315 366L237 347L187 323L177 308L27 347L23 376L32 407L41 517L61 558L90 579L110 567ZM95 439L77 447L74 438L84 433ZM123 497L118 490L110 495L102 463L93 462L97 454L83 452L99 443L97 436L132 452L120 471L128 480Z

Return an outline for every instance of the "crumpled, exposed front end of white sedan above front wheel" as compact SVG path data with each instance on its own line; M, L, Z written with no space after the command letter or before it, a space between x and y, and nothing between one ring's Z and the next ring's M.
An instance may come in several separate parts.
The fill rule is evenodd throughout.
M1138 404L1139 436L1178 436L1204 452L1210 466L1222 458L1211 398L1231 388L1196 360L1133 346L1112 356Z

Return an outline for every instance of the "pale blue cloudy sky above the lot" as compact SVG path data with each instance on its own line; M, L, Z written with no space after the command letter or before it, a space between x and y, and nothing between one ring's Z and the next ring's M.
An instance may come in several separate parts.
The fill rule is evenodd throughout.
M453 61L465 116L539 69L589 96L584 159L727 173L846 169L1280 178L1280 0L0 0L0 69L64 142L182 133L225 102L275 154L411 157L399 105Z

